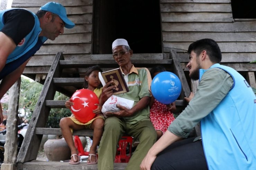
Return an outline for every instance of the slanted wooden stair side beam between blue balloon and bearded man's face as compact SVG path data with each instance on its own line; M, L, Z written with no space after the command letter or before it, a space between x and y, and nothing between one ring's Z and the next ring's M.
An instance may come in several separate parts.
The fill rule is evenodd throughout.
M182 84L183 92L180 95L181 99L183 99L184 97L189 97L191 91L189 89L188 81L186 80L186 76L185 76L184 71L181 67L181 63L179 61L179 58L177 57L176 51L170 50L170 56L173 59L174 73L177 76L179 76L181 84Z

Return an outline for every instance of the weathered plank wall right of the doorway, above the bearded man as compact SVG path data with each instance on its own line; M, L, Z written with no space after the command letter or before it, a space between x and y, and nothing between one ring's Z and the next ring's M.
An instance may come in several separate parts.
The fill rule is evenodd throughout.
M211 38L220 46L222 62L256 59L256 19L234 20L230 0L160 0L160 6L165 57L174 48L188 60L190 43Z

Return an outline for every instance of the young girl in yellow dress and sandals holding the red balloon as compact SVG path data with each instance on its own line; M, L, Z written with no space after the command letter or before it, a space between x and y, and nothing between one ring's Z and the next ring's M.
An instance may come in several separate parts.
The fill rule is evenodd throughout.
M85 72L85 81L83 88L89 89L93 91L98 97L101 95L102 87L99 88L101 85L98 73L102 72L99 66L92 66L88 68ZM70 108L74 103L70 100L66 101L65 106L66 108ZM60 121L60 127L62 131L62 135L67 142L68 147L71 150L71 160L70 164L79 164L80 157L77 155L78 151L75 148L75 144L72 138L71 129L80 130L80 129L93 129L93 141L92 146L89 151L89 158L87 160L87 164L97 164L97 156L96 156L96 149L97 145L100 142L102 133L103 133L103 126L104 126L104 116L101 113L102 106L101 104L97 104L98 108L93 110L93 112L97 115L95 118L90 120L87 123L82 123L77 120L73 114L70 117L62 118Z

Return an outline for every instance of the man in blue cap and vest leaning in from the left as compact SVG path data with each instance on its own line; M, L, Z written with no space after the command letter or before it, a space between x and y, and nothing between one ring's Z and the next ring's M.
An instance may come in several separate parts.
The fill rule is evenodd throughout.
M36 14L24 9L0 11L0 99L47 39L55 40L63 34L64 27L74 26L60 3L48 2Z

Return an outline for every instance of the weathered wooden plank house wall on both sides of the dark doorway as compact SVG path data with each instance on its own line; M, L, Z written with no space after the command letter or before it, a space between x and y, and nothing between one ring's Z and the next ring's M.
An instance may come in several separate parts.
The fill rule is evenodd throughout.
M187 61L190 43L211 38L218 42L222 61L249 62L256 58L256 20L234 20L230 0L159 0L164 58L174 48ZM36 12L48 0L13 0L12 8ZM92 51L93 0L56 0L66 7L73 29L55 41L47 40L27 64L25 73L47 73L57 51L66 60L90 60ZM146 2L146 1L145 1Z

